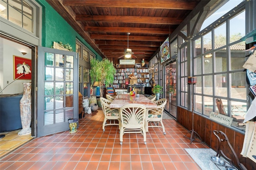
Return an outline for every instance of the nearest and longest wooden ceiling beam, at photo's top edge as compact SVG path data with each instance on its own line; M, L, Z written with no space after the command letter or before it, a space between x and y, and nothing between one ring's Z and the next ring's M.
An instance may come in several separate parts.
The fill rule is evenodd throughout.
M193 10L198 2L195 0L63 0L62 3L66 6Z

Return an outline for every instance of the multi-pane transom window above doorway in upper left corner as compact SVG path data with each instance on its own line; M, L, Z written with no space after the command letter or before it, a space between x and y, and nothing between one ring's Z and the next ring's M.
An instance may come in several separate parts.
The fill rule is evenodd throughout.
M25 30L36 31L36 7L26 0L1 0L0 16Z

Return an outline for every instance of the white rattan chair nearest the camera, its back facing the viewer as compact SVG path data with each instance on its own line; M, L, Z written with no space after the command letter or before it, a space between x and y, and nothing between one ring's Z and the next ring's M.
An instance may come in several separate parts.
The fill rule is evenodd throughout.
M147 144L145 117L146 107L144 105L128 104L120 108L120 144L123 143L125 133L141 133L144 144Z

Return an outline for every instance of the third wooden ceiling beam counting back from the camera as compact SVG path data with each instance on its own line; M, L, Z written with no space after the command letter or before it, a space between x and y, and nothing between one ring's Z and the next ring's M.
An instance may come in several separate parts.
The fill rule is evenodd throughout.
M95 27L95 26L85 26L84 30L87 32L131 32L141 33L141 34L171 34L174 29L164 29L164 28L134 28L134 27Z

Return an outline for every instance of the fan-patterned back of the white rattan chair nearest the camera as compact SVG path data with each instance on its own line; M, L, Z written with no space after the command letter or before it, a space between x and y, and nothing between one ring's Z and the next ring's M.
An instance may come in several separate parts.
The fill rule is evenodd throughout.
M120 108L121 126L140 128L145 125L146 107L140 104L128 104Z

